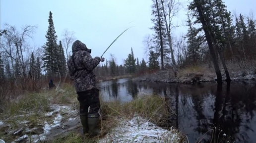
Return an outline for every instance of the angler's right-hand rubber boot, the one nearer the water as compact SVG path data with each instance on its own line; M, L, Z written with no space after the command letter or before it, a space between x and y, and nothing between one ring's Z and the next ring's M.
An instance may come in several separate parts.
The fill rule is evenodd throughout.
M99 113L88 114L88 126L89 126L89 136L97 136L100 134L98 129L99 123Z

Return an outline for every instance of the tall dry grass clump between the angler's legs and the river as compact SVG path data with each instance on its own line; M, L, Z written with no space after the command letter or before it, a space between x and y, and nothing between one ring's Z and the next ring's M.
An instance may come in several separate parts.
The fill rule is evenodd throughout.
M165 127L168 127L168 117L174 114L168 111L170 108L165 98L159 95L145 95L123 104L119 101L102 102L101 106L103 135L116 127L120 120L131 119L134 113Z

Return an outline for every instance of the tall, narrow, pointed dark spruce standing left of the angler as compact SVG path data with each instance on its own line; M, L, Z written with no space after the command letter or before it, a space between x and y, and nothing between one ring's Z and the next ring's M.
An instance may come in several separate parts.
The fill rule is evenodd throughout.
M50 76L56 76L58 73L58 44L57 44L57 35L54 27L53 22L53 13L50 11L49 13L49 19L48 19L48 31L46 34L47 42L45 44L44 48L44 57L42 60L44 60L43 68L47 71Z

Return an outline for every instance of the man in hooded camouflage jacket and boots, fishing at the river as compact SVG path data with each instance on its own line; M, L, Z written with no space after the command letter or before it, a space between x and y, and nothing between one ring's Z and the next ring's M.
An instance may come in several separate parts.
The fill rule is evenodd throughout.
M67 61L69 75L74 81L74 87L79 101L80 121L83 134L96 136L99 134L97 128L99 121L99 90L96 88L96 79L93 69L105 59L98 56L92 58L91 49L76 40L72 45L72 56ZM90 110L88 112L88 107Z

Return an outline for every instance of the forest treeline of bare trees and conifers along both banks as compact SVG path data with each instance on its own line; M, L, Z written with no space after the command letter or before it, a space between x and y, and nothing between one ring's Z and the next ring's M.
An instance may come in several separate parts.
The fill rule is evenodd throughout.
M227 62L256 72L256 19L253 13L232 14L222 0L192 0L187 8L187 34L179 38L173 33L182 25L175 25L174 18L182 4L178 0L152 2L154 25L150 29L154 34L143 41L148 59L134 57L132 48L122 64L117 64L112 55L94 70L98 80L165 69L176 73L178 69L205 63L213 65L218 82L222 81L221 67L230 80ZM64 29L62 35L57 36L51 11L48 23L46 42L40 48L29 43L36 26L26 25L19 29L4 24L1 27L1 100L23 91L39 91L50 79L58 81L57 85L69 82L66 61L75 40L74 32Z

